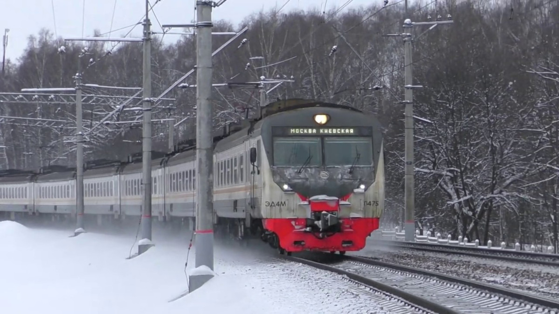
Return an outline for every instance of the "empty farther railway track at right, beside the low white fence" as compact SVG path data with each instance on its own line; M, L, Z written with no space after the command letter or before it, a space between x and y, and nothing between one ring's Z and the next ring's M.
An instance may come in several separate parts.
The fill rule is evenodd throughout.
M500 249L485 249L485 248L471 248L469 246L452 246L442 244L429 244L418 242L402 242L402 241L388 241L376 240L379 244L386 244L397 248L406 248L413 250L449 253L449 254L462 254L468 256L476 256L480 258L494 258L500 260L518 261L522 263L541 264L548 266L559 267L559 255L545 254L526 251L509 251Z

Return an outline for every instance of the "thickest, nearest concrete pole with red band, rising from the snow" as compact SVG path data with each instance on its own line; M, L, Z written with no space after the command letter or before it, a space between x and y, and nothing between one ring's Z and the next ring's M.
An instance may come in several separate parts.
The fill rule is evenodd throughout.
M196 267L214 269L211 1L196 1ZM190 291L211 275L191 275Z

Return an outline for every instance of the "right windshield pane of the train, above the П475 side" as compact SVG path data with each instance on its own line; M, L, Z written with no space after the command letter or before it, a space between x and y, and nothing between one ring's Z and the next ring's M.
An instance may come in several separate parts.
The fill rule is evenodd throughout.
M327 166L373 163L371 137L324 137L324 159Z

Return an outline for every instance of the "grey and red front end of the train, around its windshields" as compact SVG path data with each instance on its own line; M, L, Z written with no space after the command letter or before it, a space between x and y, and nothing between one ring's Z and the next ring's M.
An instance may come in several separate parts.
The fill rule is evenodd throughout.
M296 114L305 118L326 111L333 116L339 109L305 111ZM287 116L288 113L281 114ZM360 123L355 120L359 116L362 115L353 113L349 118L354 123ZM283 117L283 121L293 121L292 118ZM372 139L372 164L356 170L358 174L352 178L344 177L349 168L353 168L349 164L327 166L319 162L315 166L297 164L278 167L272 156L273 136L267 137L266 127L263 126L262 152L266 156L262 156L260 161L263 181L267 183L262 187L263 240L278 248L280 253L304 250L340 253L358 251L364 248L366 237L378 229L384 207L382 137L370 121L362 123L364 129L371 129L368 136ZM270 135L274 132L272 129L273 126L268 129ZM323 136L321 141L324 145ZM324 153L324 149L317 151ZM326 175L331 178L326 178Z

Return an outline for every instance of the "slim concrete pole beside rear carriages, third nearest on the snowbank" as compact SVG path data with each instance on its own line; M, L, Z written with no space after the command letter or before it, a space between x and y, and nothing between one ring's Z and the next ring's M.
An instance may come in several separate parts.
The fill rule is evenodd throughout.
M85 55L85 52L83 52ZM76 131L76 228L74 235L79 235L84 230L84 204L83 204L83 122L82 122L82 55L78 56L78 73L75 74L75 131Z

